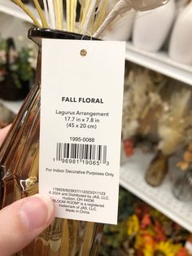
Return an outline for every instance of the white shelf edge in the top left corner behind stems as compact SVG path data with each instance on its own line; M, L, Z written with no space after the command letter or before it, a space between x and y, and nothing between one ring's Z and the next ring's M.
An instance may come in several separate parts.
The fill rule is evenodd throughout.
M37 16L37 11L33 6L28 6L28 8L35 16ZM28 15L26 15L20 7L16 6L15 3L11 2L11 0L0 0L0 11L33 24L33 21L28 17Z

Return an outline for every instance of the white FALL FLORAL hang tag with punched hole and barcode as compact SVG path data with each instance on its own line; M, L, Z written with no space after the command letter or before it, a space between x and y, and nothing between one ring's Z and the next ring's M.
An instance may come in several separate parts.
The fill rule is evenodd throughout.
M56 215L117 223L124 42L42 41L39 191Z

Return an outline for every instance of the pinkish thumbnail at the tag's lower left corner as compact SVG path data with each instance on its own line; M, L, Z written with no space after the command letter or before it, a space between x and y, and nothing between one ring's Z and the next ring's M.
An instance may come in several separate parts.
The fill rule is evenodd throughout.
M50 196L37 194L28 197L20 207L20 221L28 229L38 229L50 220L53 210Z

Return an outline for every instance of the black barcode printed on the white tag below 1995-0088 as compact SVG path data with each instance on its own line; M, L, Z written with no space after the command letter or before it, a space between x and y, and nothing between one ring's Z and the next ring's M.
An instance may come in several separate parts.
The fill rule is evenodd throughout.
M95 144L57 143L56 161L78 159L107 162L107 146Z

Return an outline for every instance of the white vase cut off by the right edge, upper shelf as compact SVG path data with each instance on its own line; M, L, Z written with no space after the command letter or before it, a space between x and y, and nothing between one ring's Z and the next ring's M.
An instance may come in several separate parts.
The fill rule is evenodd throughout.
M168 55L181 64L192 64L192 2L177 17L172 30Z

